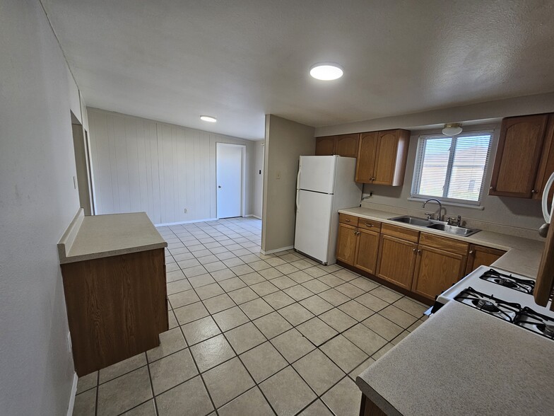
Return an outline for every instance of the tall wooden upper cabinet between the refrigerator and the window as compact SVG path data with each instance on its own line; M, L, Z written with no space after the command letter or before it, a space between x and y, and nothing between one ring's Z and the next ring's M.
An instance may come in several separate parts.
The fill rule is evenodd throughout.
M360 134L356 182L402 185L409 143L410 132L403 129Z

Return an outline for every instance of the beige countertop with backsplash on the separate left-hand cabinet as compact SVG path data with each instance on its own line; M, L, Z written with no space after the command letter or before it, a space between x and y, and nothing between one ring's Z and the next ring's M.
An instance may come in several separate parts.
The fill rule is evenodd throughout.
M58 244L61 264L167 247L146 212L83 216L80 209Z

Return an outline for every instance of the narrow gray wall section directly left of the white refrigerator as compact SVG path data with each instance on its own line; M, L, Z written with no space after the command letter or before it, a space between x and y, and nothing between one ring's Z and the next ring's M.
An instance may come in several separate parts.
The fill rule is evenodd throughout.
M315 152L314 128L266 115L264 207L261 249L273 252L294 245L298 160ZM277 178L280 175L281 178Z

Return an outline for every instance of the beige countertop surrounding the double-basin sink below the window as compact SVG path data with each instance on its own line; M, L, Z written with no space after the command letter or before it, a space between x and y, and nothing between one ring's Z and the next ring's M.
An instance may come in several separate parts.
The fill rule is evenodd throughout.
M500 259L493 263L493 266L507 270L518 275L524 275L536 278L538 264L541 262L541 255L544 248L543 241L530 240L529 238L521 238L517 236L509 236L507 234L493 233L492 231L479 231L472 236L462 237L455 236L444 231L427 229L421 226L413 226L411 224L399 223L391 221L389 218L400 216L400 214L392 214L390 212L378 211L377 209L369 209L363 207L355 207L348 209L339 209L338 212L360 216L362 218L381 221L386 224L394 224L396 226L406 227L425 233L437 234L455 240L466 241L471 244L485 245L491 248L506 250L507 253L502 255Z

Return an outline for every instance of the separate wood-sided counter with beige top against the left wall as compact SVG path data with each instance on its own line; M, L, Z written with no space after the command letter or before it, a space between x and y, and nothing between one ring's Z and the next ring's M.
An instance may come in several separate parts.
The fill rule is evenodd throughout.
M143 212L73 220L58 247L78 376L160 344L166 246Z

